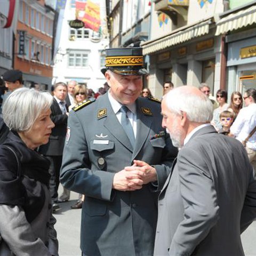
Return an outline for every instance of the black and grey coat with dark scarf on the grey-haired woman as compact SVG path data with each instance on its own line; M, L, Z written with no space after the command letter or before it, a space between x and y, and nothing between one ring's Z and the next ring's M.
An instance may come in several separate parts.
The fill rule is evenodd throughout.
M58 255L56 220L47 188L49 165L17 133L10 132L0 146L0 255Z

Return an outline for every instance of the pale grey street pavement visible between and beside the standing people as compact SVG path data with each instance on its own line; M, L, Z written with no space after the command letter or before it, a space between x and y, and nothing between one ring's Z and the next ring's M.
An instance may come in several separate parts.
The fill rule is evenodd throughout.
M60 191L61 190L62 188L60 188ZM57 219L55 229L57 230L59 239L60 256L81 256L81 250L79 248L81 209L70 209L70 206L76 203L77 198L78 194L71 192L70 201L61 203L61 209L58 213L54 214L54 217ZM242 234L242 243L246 256L256 256L255 241L256 221L254 221Z

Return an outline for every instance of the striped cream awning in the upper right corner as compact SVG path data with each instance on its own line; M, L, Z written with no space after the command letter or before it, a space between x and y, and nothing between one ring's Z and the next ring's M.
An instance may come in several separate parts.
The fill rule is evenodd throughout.
M216 23L217 30L215 36L252 25L253 23L256 23L256 5L236 13L231 13L218 21Z

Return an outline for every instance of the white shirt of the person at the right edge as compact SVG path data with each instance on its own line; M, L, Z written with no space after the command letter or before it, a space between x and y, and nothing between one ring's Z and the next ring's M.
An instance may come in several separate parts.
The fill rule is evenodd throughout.
M230 132L235 135L239 141L245 140L250 132L256 126L256 103L251 103L248 107L242 108L233 125L230 127ZM256 132L252 135L246 146L252 150L256 150Z

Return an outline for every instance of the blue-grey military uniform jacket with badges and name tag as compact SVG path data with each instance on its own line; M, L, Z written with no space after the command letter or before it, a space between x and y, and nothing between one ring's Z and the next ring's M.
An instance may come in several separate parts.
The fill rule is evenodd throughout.
M107 93L83 109L70 111L60 180L66 188L85 194L81 223L85 255L153 255L158 193L150 184L137 191L114 190L113 178L139 159L155 166L163 186L177 149L165 131L151 139L164 130L161 105L143 98L136 104L134 150Z

